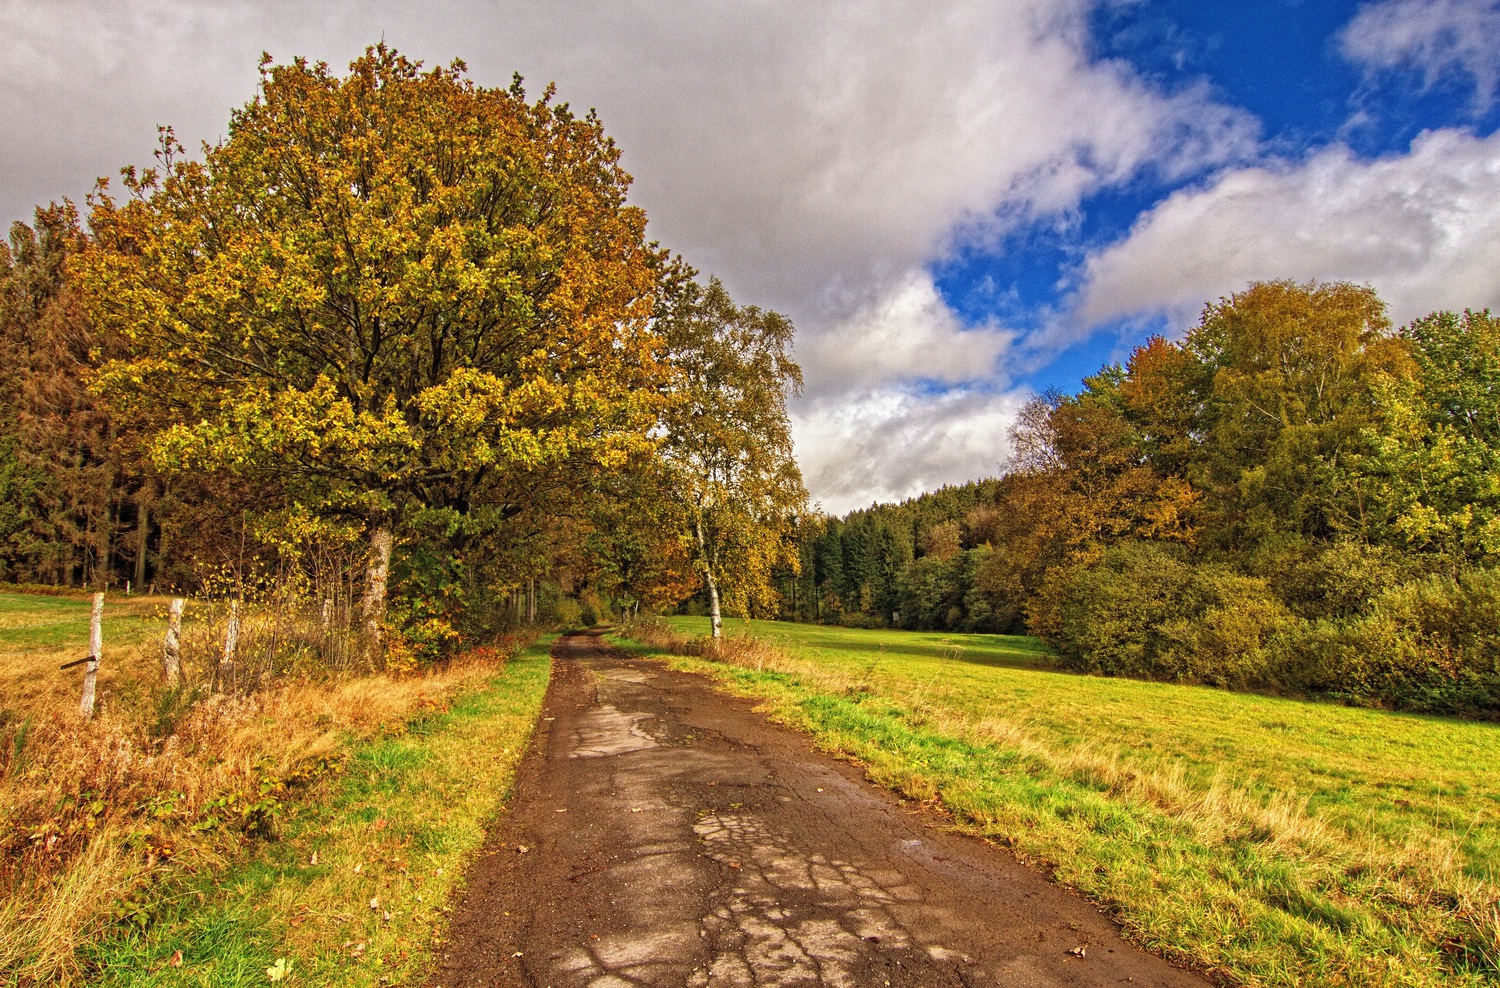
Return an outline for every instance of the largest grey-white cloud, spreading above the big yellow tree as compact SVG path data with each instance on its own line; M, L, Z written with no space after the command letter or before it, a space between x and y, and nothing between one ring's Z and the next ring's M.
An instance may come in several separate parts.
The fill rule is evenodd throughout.
M957 415L987 432L1008 408L992 393L1004 382L975 384L1008 334L960 328L921 271L1143 171L1192 175L1254 153L1256 121L1206 90L1164 93L1095 61L1090 6L0 3L0 211L24 217L146 162L158 123L189 147L216 139L262 49L342 66L384 37L429 63L462 57L486 85L513 70L532 91L556 81L620 139L651 235L798 325L796 439L814 493L906 492L916 477L992 472L993 450ZM918 450L928 429L945 438ZM873 460L848 453L890 439L927 466L879 486Z

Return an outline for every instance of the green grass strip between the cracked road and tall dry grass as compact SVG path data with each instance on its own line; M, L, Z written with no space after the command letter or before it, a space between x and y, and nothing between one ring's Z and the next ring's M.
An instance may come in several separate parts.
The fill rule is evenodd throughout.
M174 883L144 931L87 951L102 985L400 985L430 969L447 903L507 796L550 639L405 732L368 742L278 840Z

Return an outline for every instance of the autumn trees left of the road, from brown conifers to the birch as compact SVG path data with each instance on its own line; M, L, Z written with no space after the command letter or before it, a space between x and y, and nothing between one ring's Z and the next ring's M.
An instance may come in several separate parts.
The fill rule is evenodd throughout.
M159 136L0 246L0 577L340 589L370 666L770 600L792 327L646 240L592 112L376 45Z

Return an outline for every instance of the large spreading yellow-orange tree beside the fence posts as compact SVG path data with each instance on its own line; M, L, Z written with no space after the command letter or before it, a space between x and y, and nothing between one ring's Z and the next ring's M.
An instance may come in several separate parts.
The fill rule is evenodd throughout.
M525 474L651 445L660 256L614 142L550 88L384 45L348 75L267 57L225 141L188 160L168 130L159 157L93 196L78 274L129 348L102 385L160 463L357 519L372 655L406 513L502 523Z

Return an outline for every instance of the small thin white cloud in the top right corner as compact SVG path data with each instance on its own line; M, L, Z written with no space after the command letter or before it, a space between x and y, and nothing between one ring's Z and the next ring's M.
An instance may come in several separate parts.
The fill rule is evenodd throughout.
M1500 1L1382 0L1348 22L1340 45L1371 70L1416 69L1426 85L1467 72L1486 108L1500 85Z

